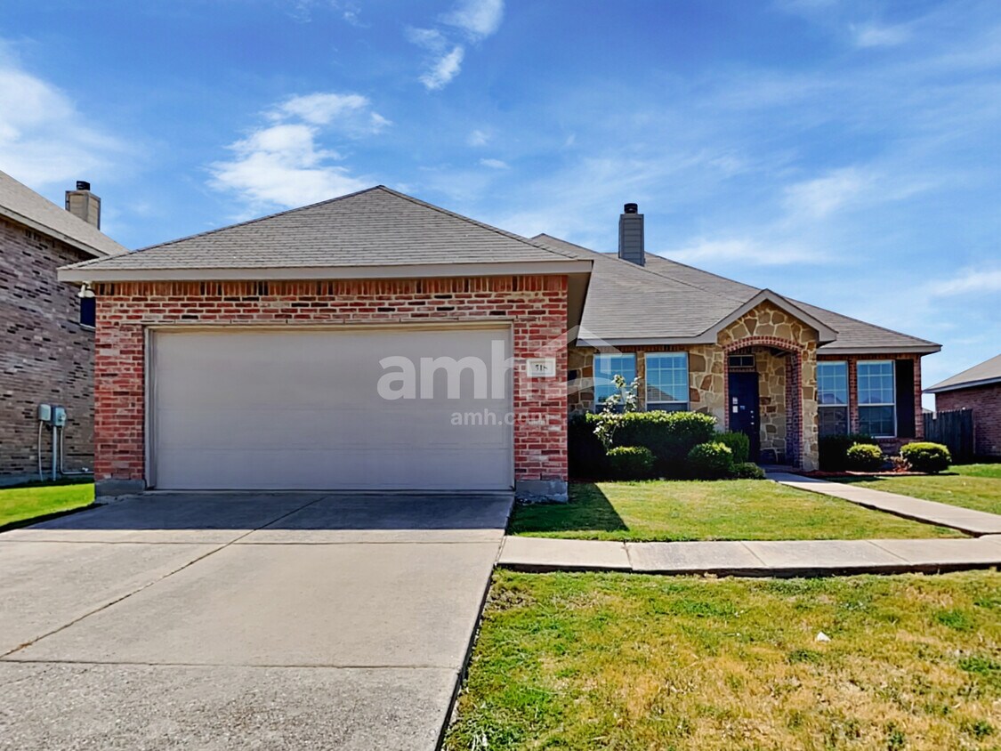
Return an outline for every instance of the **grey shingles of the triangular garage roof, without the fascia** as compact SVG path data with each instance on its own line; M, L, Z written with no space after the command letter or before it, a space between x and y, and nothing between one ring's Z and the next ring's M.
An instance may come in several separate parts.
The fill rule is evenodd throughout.
M72 267L306 268L576 258L378 185Z

